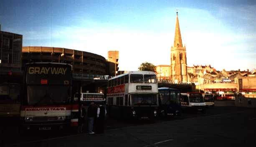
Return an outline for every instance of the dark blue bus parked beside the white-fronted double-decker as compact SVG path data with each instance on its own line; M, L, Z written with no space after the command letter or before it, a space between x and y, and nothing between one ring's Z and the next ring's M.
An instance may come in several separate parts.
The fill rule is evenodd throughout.
M159 109L161 117L172 117L181 115L180 91L177 89L161 87L158 88Z

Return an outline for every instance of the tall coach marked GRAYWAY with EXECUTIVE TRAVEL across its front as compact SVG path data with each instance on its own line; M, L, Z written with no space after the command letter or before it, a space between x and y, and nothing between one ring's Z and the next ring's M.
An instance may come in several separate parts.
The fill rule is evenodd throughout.
M27 63L20 107L22 127L53 130L78 126L79 104L72 93L72 66L63 63Z

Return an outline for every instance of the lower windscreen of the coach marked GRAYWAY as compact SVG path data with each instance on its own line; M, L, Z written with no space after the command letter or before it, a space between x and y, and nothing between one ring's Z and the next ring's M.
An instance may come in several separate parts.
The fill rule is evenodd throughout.
M70 98L69 86L28 86L28 103L40 104L64 104Z

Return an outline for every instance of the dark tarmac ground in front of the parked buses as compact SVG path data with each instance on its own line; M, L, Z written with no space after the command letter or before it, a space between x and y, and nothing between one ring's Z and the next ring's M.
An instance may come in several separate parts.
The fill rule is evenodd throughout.
M155 123L108 119L104 134L34 131L20 135L2 128L3 147L256 147L256 109L215 101L206 113Z

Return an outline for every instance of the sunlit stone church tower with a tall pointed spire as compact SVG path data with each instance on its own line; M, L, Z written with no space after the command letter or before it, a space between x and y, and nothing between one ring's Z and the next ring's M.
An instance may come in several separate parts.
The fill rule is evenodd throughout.
M182 45L178 12L176 12L174 44L171 47L171 78L172 82L188 82L186 47Z

